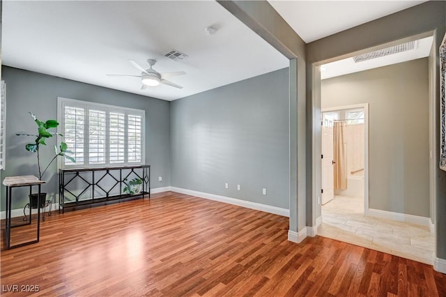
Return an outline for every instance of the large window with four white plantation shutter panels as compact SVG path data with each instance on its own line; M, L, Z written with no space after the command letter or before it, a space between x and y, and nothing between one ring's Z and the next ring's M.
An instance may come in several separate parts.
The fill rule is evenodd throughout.
M144 110L59 98L60 139L76 162L59 167L144 164Z

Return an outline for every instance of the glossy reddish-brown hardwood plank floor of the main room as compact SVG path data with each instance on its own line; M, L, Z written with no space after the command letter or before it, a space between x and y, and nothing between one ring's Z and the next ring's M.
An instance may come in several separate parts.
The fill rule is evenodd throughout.
M279 215L153 197L54 213L40 243L2 250L1 295L446 296L427 264L320 236L291 243Z

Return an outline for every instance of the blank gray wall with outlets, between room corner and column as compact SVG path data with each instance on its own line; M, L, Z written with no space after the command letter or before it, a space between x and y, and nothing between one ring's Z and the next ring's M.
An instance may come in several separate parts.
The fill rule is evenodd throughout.
M171 185L288 209L288 89L285 68L171 102Z

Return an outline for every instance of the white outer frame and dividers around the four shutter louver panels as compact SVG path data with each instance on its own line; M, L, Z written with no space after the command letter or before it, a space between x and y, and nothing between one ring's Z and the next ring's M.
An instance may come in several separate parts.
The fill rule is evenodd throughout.
M123 167L123 166L132 166L132 165L145 165L146 164L146 111L144 109L134 109L130 107L121 107L118 105L108 105L103 103L90 102L85 100L76 100L70 98L57 98L57 121L59 122L59 126L57 128L57 132L63 135L63 131L65 130L65 120L63 118L64 108L66 105L72 105L75 107L83 107L84 108L84 116L85 116L85 128L84 128L84 164L82 165L66 165L65 158L57 159L57 168L58 169L66 169L66 168L95 168L95 167ZM106 163L101 164L87 164L89 162L89 110L90 109L99 109L106 112L107 119L109 118L110 112L121 112L125 114L125 161L122 163L110 163L109 162L109 122L106 121L106 150L105 150L105 160ZM141 161L140 162L128 162L128 116L127 114L136 114L141 116ZM63 142L65 137L57 137L57 143L60 144Z

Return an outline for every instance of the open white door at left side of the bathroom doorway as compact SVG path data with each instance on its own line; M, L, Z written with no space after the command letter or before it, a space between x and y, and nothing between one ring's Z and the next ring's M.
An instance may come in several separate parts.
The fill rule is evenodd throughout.
M322 126L322 204L334 198L333 122L324 119Z

